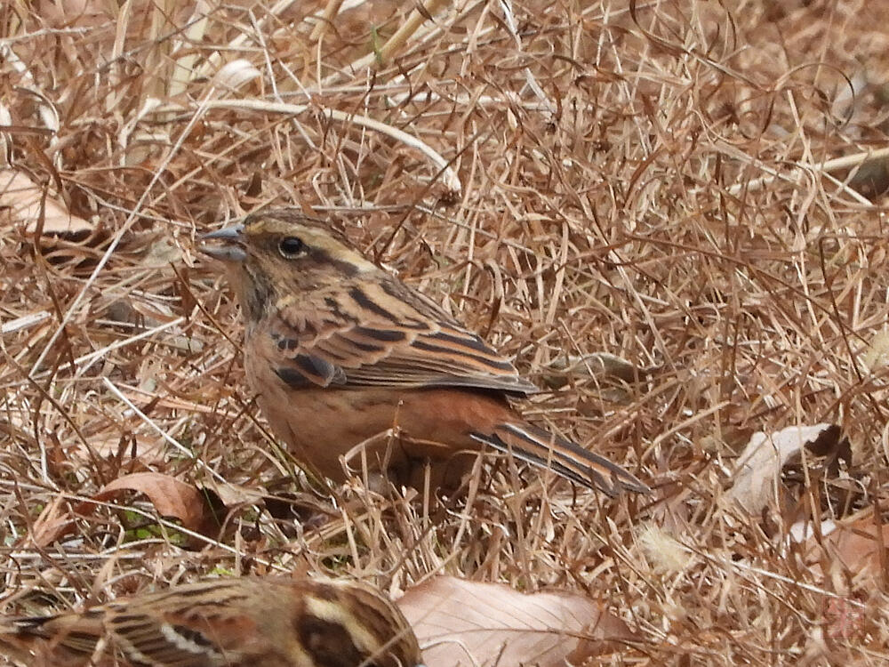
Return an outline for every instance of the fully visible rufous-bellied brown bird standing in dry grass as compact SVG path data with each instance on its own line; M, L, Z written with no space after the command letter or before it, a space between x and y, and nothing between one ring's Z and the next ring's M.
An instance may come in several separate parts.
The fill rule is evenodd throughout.
M342 480L340 457L396 481L453 488L492 446L606 494L649 489L627 470L533 426L508 397L536 391L434 301L380 269L326 221L296 209L212 232L244 316L244 366L292 453ZM380 438L396 428L397 438Z

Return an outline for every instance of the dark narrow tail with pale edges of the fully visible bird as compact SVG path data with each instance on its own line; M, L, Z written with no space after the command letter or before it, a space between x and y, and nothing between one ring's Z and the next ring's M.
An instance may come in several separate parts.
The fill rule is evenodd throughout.
M616 463L531 424L498 424L493 433L473 433L472 438L610 496L621 491L651 492L645 483Z

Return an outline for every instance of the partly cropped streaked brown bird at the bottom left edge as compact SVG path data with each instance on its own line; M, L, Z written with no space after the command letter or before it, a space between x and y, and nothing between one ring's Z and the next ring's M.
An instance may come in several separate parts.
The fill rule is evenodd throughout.
M218 579L83 612L0 619L31 667L418 667L398 608L358 583ZM421 666L420 666L421 667Z

